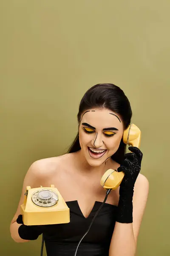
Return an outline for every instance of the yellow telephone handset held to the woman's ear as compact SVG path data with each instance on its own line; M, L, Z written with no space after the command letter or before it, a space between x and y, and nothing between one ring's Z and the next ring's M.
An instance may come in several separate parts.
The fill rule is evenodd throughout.
M128 128L124 131L123 142L125 144L139 148L141 142L140 129L134 124L129 125ZM100 184L104 189L117 189L122 182L124 175L124 172L116 172L113 169L108 169L108 171L106 171L102 176Z

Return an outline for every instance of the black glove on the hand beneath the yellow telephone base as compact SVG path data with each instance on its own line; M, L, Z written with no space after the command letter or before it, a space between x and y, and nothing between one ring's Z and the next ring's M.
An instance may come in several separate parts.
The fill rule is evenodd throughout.
M26 226L23 224L23 215L19 215L17 223L22 224L18 229L20 238L25 240L36 240L42 234L42 226Z

